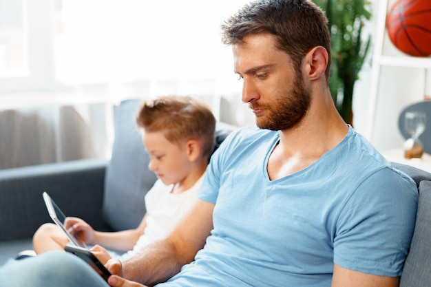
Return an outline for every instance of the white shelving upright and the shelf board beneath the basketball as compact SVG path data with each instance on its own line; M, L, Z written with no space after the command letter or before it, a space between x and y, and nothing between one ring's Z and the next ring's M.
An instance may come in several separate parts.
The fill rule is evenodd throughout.
M379 0L379 10L377 14L375 48L372 57L372 74L370 81L370 95L368 100L368 123L366 125L365 136L373 142L375 136L375 120L377 113L377 99L379 97L379 85L381 82L382 67L405 67L423 69L424 74L424 95L426 92L427 70L431 69L431 58L414 57L402 54L397 51L395 55L388 55L383 52L383 45L386 34L386 14L395 1ZM386 39L388 41L388 39ZM399 79L402 80L402 79Z

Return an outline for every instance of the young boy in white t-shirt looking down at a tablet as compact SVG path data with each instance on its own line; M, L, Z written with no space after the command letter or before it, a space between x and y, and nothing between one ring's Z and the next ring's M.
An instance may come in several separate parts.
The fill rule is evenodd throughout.
M84 220L68 217L66 228L95 245L92 251L103 262L111 257L131 257L149 242L165 237L195 198L209 162L215 139L215 117L201 100L190 96L162 96L144 102L137 115L149 169L158 180L145 195L147 213L136 229L95 231ZM63 250L69 242L55 224L43 224L33 237L36 254ZM101 247L103 246L103 247ZM105 248L123 252L117 255Z

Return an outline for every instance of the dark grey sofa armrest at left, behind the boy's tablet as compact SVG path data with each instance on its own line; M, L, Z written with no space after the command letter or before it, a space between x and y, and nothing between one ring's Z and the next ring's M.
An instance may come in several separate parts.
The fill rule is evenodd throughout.
M102 202L107 160L86 159L0 170L0 241L32 237L52 222L42 193L68 216L103 228Z

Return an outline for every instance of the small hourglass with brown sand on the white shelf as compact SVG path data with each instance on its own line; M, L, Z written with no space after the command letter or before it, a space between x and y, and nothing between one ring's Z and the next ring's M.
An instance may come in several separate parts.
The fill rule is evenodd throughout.
M426 114L419 111L407 111L404 116L404 127L410 134L410 138L404 142L405 158L421 158L423 144L419 136L425 131Z

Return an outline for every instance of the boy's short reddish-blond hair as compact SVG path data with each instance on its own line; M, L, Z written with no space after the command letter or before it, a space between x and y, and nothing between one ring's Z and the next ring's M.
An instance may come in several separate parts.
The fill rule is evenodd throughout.
M198 140L203 156L209 156L215 140L215 117L203 100L191 96L160 96L143 102L136 116L138 127L147 132L162 132L180 145Z

